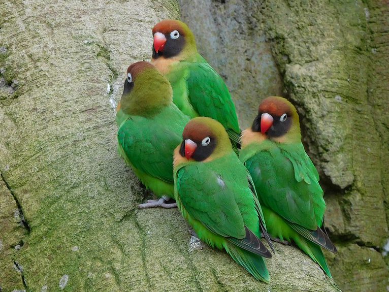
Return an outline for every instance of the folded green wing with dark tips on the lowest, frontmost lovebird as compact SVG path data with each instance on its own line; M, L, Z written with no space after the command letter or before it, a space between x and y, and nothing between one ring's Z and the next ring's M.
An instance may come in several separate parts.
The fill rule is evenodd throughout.
M235 172L231 172L231 168ZM215 163L182 167L177 171L176 187L177 192L183 194L179 199L191 217L235 245L270 257L270 252L258 239L261 233L255 205L259 203L252 195L247 176L247 170L232 154ZM236 183L240 181L246 184Z

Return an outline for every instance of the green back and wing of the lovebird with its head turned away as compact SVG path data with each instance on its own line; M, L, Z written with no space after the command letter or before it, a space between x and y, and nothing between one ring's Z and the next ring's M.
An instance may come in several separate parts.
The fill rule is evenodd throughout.
M118 143L135 168L173 183L173 151L188 120L174 105L153 118L131 116L119 127Z

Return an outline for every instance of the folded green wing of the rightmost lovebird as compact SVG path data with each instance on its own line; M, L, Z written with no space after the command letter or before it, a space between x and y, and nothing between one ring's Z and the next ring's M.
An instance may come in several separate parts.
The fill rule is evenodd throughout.
M295 177L294 165L278 147L257 152L245 161L252 175L261 204L280 214L285 219L316 230L321 225L325 210L323 191L317 180L308 184ZM300 170L304 168L300 167ZM309 170L307 170L309 171ZM302 177L310 178L306 172ZM314 207L317 206L317 210Z

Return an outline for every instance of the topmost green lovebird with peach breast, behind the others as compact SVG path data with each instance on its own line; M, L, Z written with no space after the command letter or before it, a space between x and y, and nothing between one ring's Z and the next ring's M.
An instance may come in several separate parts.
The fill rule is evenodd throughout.
M172 85L174 104L191 118L219 121L237 152L240 128L235 105L223 79L197 52L189 27L178 20L164 20L154 26L153 36L151 62Z

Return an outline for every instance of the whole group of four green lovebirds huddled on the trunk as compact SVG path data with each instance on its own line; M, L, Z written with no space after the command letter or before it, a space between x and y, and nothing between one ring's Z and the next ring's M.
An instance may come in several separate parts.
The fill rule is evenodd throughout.
M326 204L296 108L267 98L241 133L189 27L164 20L152 33L151 63L128 67L116 113L119 154L159 198L139 207L178 207L201 240L258 280L270 281L261 241L274 252L270 236L294 242L331 277L321 248L337 249L321 229Z

